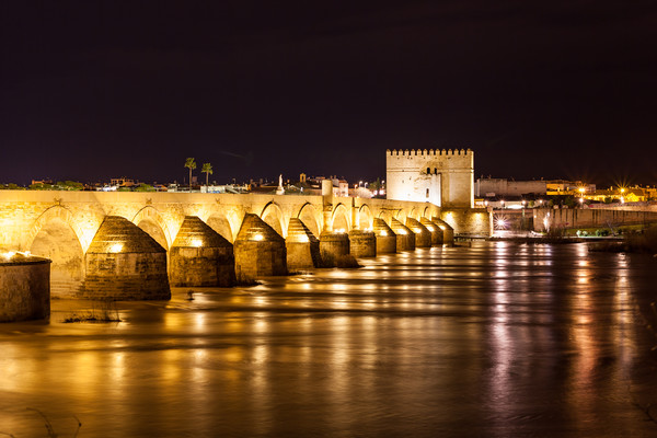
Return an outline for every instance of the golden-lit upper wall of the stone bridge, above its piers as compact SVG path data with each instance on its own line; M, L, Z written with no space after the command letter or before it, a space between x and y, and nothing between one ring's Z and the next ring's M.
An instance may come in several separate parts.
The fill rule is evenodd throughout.
M87 276L88 250L103 221L119 217L146 231L170 252L186 218L198 218L235 243L247 214L283 239L299 219L312 235L371 230L374 219L440 218L459 234L489 235L482 209L441 209L429 203L392 199L263 194L0 191L0 252L23 251L53 261L54 296L70 295ZM439 220L439 219L437 219ZM127 223L127 222L126 222ZM415 222L414 222L415 223ZM171 261L170 261L171 263ZM57 285L55 287L55 285Z

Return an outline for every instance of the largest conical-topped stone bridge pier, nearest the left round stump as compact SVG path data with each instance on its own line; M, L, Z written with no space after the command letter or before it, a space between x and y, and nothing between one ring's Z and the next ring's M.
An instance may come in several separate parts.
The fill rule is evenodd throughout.
M166 251L129 220L107 216L84 256L82 295L91 299L169 300Z

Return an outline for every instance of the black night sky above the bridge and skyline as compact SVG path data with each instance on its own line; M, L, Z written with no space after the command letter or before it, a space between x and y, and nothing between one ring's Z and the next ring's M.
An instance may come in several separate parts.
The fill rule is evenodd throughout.
M475 177L657 183L655 1L3 1L0 182Z

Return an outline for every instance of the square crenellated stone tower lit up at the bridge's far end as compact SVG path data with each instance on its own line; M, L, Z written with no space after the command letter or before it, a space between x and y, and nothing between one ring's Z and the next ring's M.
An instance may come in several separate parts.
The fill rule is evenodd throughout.
M474 152L470 149L389 149L385 170L388 199L474 207Z

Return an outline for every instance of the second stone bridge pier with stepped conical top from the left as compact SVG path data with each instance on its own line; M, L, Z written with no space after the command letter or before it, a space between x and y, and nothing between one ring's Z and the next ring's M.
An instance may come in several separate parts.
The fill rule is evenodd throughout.
M232 244L196 216L186 216L169 253L171 286L231 287Z

